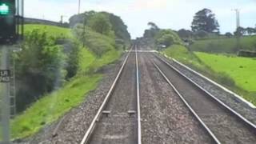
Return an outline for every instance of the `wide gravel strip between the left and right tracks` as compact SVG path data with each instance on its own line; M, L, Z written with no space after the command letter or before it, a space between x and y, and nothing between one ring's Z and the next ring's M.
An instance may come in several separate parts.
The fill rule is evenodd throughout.
M178 94L150 62L139 54L142 143L212 143Z

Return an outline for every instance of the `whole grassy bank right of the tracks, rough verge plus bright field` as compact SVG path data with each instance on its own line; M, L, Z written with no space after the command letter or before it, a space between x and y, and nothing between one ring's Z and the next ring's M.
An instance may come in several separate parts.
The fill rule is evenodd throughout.
M190 66L214 81L234 90L256 105L255 66L253 58L238 58L222 54L190 52L184 46L170 46L163 51L169 57Z

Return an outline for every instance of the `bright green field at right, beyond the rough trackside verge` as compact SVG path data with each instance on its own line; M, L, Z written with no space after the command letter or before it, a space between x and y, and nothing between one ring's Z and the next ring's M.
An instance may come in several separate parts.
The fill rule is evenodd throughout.
M222 54L195 53L202 62L216 72L224 72L233 78L243 90L256 91L256 60L231 57Z

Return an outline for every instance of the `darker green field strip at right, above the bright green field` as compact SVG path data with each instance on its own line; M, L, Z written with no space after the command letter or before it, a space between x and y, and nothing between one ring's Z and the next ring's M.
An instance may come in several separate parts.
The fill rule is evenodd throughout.
M256 51L256 35L241 38L242 50ZM216 38L195 41L190 50L207 53L235 53L236 38Z

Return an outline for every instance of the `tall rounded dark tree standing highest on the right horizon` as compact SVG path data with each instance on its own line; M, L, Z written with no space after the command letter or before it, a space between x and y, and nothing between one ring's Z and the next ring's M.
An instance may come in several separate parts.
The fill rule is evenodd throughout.
M193 32L199 30L204 30L208 33L219 31L219 25L215 18L215 14L209 9L200 10L195 14L191 28Z

